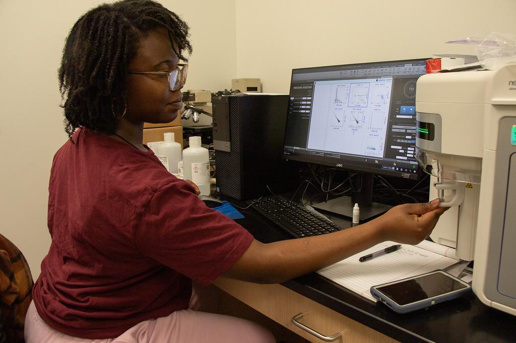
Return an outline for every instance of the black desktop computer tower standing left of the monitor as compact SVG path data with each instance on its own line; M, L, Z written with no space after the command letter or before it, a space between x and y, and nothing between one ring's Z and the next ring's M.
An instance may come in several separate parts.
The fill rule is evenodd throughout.
M238 200L297 185L297 169L282 159L288 95L214 96L213 144L217 192Z

